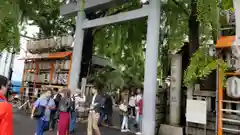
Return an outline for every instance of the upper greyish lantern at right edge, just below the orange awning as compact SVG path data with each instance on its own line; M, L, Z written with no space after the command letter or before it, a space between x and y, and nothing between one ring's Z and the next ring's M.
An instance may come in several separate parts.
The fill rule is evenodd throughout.
M236 71L240 69L240 58L233 56L233 54L229 52L226 53L226 60L230 70Z

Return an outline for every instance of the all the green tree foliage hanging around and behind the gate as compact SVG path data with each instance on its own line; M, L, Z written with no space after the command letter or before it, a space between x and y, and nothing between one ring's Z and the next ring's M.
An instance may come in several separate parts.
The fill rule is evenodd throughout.
M216 42L220 24L225 23L224 16L219 16L219 12L232 9L231 0L222 0L221 3L218 0L161 0L160 78L168 73L168 54L179 50L191 36L189 18L192 1L197 3L200 48L192 56L189 67L185 71L184 82L187 86L199 79L204 79L216 69L217 63L222 63L222 61L207 55L205 51L209 47L209 41L213 41L212 44ZM75 20L65 20L59 16L61 4L60 0L1 1L0 11L4 12L0 12L0 49L19 44L18 25L24 21L31 21L30 24L39 26L40 37L74 32ZM139 0L132 0L127 4L104 11L101 16L125 12L141 6ZM143 82L146 30L146 19L102 26L93 30L95 54L111 59L118 67L117 71L112 73L122 77L125 84L141 84ZM222 66L222 68L224 67ZM104 74L106 75L106 73Z

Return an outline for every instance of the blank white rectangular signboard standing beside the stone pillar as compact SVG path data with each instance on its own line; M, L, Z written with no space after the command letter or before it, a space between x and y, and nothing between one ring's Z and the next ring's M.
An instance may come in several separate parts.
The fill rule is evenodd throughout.
M207 124L207 101L187 99L187 122Z

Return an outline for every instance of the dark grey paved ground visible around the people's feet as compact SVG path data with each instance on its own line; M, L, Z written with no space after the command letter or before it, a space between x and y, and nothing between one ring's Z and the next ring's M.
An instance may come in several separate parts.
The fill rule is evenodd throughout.
M116 118L116 117L115 117ZM116 121L116 119L115 119ZM76 135L87 135L86 124L79 124ZM119 129L101 127L102 135L133 135L132 133L121 133ZM35 121L26 114L14 111L14 135L34 135ZM47 132L46 135L56 135L56 132Z

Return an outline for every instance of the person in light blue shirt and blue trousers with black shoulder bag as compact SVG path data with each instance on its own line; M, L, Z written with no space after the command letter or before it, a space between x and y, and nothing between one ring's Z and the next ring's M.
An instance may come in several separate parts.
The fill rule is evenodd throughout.
M37 119L36 135L43 135L49 129L50 113L56 107L51 96L52 91L48 89L33 105L31 118Z

